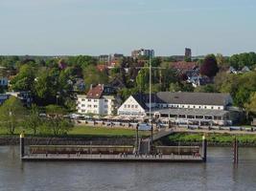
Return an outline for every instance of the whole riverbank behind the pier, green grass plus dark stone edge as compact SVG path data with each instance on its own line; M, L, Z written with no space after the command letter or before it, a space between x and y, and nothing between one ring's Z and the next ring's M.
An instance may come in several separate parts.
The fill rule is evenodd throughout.
M0 133L0 145L18 145L19 133L15 135L5 135ZM25 132L25 141L27 145L133 145L135 142L136 132L133 129L124 128L105 128L77 126L71 132L64 136L38 135L33 136L30 132ZM231 146L234 136L228 134L207 134L209 146ZM149 137L150 132L140 132L140 137ZM255 135L237 135L240 146L256 147ZM161 138L155 141L155 145L200 145L202 133L175 133L172 136Z

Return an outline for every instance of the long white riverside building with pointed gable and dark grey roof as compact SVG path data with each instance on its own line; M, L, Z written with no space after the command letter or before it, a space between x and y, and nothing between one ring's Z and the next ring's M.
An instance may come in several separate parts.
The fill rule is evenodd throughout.
M232 98L228 94L217 93L171 93L159 92L151 95L129 96L118 109L122 116L149 116L176 125L229 125L232 118L228 107Z

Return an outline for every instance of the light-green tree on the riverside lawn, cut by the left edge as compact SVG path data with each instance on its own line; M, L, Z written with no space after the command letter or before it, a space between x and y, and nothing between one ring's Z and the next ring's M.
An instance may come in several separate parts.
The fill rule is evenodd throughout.
M15 129L23 124L26 109L22 102L11 96L0 107L0 126L7 129L13 135Z

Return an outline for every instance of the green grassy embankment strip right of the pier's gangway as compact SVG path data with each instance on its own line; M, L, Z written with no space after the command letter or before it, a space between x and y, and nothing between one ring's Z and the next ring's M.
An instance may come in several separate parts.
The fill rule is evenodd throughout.
M234 136L227 134L209 134L207 140L212 143L231 143L234 140ZM236 136L241 143L256 143L255 135L238 135ZM202 134L174 134L168 137L170 142L200 142L202 140Z

